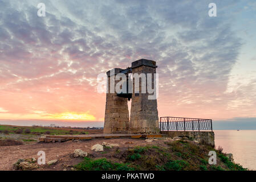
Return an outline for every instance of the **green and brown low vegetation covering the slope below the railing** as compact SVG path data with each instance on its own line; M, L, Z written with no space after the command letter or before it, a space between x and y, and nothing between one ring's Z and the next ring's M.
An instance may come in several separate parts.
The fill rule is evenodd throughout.
M115 149L111 149L115 150ZM208 163L209 151L216 151L217 165ZM117 152L118 151L118 152ZM113 158L114 157L114 158ZM107 157L108 158L108 157ZM75 166L77 170L157 170L157 171L242 171L239 164L231 162L225 154L212 146L203 146L189 140L165 142L159 146L137 146L121 151L106 158L84 158Z

